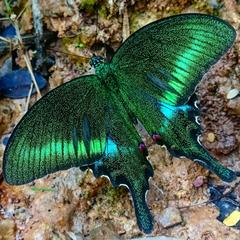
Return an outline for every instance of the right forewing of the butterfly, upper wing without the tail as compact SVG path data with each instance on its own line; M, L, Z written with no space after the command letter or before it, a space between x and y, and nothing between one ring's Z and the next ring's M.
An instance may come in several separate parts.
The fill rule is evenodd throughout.
M182 105L235 36L233 27L213 16L172 16L132 34L114 55L111 68L120 84Z

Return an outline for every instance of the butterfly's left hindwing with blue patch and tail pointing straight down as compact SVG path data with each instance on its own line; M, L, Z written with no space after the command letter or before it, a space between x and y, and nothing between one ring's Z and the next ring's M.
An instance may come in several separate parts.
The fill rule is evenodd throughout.
M113 186L126 185L131 192L139 228L145 233L153 229L153 218L146 203L148 179L153 169L138 149L141 141L121 98L111 96L108 138L105 157L93 165L94 174L107 175Z

